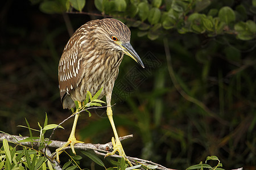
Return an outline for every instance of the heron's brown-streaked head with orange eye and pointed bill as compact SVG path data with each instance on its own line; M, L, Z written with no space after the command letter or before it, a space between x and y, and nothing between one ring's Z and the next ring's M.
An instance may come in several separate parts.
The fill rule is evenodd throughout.
M113 18L101 19L98 24L104 31L102 39L108 40L106 46L110 46L112 50L125 53L144 68L141 58L130 44L131 32L127 25Z

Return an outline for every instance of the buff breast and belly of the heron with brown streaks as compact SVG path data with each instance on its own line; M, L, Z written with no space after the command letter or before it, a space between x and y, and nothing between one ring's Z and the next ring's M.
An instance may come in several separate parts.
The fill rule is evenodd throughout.
M94 57L85 57L82 60L82 79L79 86L71 92L72 99L83 101L87 91L95 95L101 87L103 90L99 99L106 94L111 94L122 59L123 53L113 50L106 50L104 54L95 55L94 53Z

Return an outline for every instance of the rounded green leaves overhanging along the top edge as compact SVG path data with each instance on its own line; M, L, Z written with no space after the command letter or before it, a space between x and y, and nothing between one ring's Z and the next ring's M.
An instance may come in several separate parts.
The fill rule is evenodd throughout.
M222 6L212 8L209 12L206 12L212 5L209 0L155 0L151 3L96 0L94 4L103 15L125 20L132 18L130 25L141 29L138 35L147 35L150 40L158 39L168 29L176 29L181 34L193 32L209 37L226 33L236 35L240 40L253 40L256 37L256 24L248 19L256 14L253 1L238 4L235 10ZM71 8L81 12L84 7L85 0L52 0L40 3L40 9L48 14L71 11ZM246 11L249 11L248 15Z

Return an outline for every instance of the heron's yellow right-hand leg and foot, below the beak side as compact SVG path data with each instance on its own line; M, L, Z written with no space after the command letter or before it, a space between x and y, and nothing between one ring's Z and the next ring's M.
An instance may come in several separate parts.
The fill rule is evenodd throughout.
M121 144L121 142L119 140L119 137L118 137L118 134L117 134L117 129L115 129L112 108L108 107L106 112L107 112L110 124L111 124L113 132L114 132L114 136L115 136L115 137L112 137L113 151L108 153L108 154L106 154L106 156L114 155L115 152L118 151L119 155L122 156L125 160L127 160L127 162L130 164L130 166L133 166L131 164L130 160L125 158L125 156L126 156L125 155L125 151L123 150L122 144Z

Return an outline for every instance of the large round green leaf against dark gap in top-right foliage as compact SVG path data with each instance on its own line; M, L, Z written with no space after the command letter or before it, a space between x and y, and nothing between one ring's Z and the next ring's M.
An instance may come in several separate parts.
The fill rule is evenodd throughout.
M236 15L232 8L225 6L218 11L218 18L220 18L221 22L225 22L226 24L229 24L236 20Z

